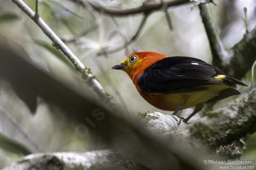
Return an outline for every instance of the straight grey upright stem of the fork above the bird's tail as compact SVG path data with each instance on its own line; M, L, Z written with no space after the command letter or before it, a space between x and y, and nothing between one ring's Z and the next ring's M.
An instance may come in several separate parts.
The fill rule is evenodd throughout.
M222 59L224 59L228 55L228 53L224 49L222 42L220 41L220 37L214 24L209 4L199 4L199 9L204 23L204 28L210 43L210 48L212 52L212 64L216 67L221 68Z

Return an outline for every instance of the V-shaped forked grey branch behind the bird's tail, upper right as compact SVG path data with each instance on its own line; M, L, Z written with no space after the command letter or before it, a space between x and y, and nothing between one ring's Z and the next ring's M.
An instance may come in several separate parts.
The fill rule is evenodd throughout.
M245 33L244 38L226 51L220 41L209 4L199 4L212 52L212 63L229 76L241 79L252 68L256 60L256 28Z

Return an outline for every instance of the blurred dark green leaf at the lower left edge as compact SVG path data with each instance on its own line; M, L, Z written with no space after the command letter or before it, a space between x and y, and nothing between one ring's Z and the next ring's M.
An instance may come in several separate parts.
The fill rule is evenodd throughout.
M4 150L7 150L15 154L28 155L32 153L24 145L13 140L10 137L7 137L1 132L0 132L0 147L3 148Z

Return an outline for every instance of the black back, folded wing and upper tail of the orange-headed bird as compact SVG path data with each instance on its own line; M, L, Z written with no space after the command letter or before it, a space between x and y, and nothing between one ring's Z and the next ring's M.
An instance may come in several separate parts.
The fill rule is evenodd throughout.
M214 76L224 75L225 81ZM147 93L178 93L209 90L203 85L243 84L217 67L192 57L167 57L148 67L138 78L138 86ZM243 84L244 85L244 84Z

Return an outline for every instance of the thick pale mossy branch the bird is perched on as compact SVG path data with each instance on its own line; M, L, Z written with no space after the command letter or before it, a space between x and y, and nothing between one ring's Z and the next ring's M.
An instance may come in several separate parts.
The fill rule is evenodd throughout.
M158 112L140 113L138 121L153 132L164 136L173 136L177 141L183 141L190 146L209 151L219 152L225 157L240 157L245 149L241 144L240 150L232 148L232 144L243 143L243 137L256 132L256 89L217 111L209 111L207 116L195 123L184 124L180 118L163 115ZM174 123L172 123L174 122ZM236 150L232 155L226 148ZM242 150L242 151L241 151Z

